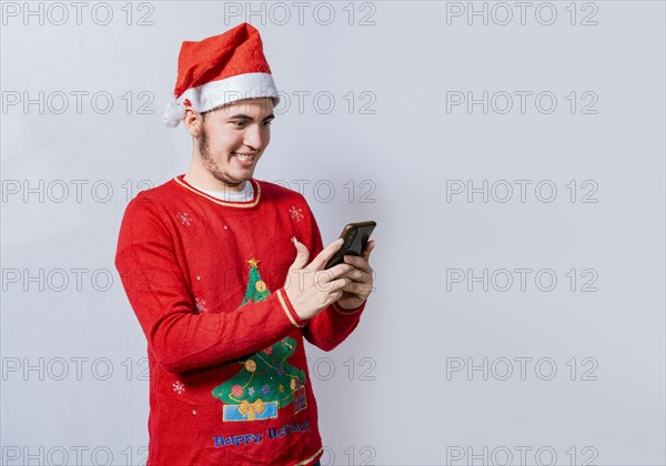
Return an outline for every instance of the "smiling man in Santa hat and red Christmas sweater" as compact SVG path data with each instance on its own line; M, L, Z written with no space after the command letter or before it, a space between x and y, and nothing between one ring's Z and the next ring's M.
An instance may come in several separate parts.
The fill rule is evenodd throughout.
M115 255L148 341L148 465L323 454L303 338L330 351L357 326L374 242L324 271L342 242L324 249L303 195L253 178L276 102L250 24L183 42L164 121L192 163L128 204Z

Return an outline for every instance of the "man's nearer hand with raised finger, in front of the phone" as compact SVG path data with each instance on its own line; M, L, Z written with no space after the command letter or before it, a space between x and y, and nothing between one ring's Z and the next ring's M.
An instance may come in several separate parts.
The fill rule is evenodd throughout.
M307 264L310 259L307 247L295 237L293 242L297 255L290 267L284 291L299 317L305 321L314 317L342 297L342 288L352 283L351 278L342 277L342 275L352 271L354 266L343 263L324 270L329 260L342 247L342 239L337 239L324 247L310 264Z

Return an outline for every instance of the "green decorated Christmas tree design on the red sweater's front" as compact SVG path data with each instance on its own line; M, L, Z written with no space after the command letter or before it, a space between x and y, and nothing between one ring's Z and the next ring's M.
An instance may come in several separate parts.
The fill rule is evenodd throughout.
M249 302L263 301L270 294L259 273L259 260L252 257L248 290L241 307ZM305 373L287 359L296 351L296 341L285 337L272 346L240 357L239 373L218 385L212 394L223 402L222 421L258 421L278 417L278 409L293 402L294 412L307 407Z

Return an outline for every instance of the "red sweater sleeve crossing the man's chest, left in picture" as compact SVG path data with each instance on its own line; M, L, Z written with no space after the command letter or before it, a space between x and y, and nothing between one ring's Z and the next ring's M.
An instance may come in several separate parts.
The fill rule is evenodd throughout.
M123 215L115 267L149 348L170 373L254 353L305 325L283 287L243 312L196 313L171 233L158 206L140 195Z

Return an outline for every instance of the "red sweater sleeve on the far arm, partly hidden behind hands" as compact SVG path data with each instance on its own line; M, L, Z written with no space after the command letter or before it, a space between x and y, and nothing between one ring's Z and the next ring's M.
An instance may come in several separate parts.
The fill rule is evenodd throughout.
M310 222L305 226L304 239L302 241L307 245L310 261L312 261L324 246L316 220L304 197L303 204ZM367 301L363 302L363 304L354 310L344 310L337 303L331 304L317 315L306 321L303 328L303 336L323 351L335 348L356 328L366 303Z

